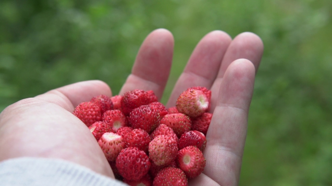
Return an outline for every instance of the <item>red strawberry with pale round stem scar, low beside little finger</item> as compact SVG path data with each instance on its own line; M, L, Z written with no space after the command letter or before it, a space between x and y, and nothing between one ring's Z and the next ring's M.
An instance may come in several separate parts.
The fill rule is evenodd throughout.
M178 163L188 178L194 178L203 172L206 159L200 149L188 146L179 150Z

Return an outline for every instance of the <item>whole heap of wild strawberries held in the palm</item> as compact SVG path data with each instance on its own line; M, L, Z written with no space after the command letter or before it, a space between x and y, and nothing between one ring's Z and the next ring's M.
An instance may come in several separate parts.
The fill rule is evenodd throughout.
M100 95L73 114L89 127L117 179L131 186L186 186L205 167L211 91L191 87L166 109L152 90Z

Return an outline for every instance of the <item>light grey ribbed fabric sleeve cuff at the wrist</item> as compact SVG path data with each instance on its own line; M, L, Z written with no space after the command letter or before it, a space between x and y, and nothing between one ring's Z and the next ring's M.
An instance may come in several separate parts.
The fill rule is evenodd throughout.
M60 159L30 157L0 162L0 185L128 186L79 164Z

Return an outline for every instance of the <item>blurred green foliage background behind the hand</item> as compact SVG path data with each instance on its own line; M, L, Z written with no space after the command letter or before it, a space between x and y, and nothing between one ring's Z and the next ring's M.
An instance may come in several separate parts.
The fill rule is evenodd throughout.
M241 186L332 185L331 0L1 0L0 111L69 83L117 94L156 28L175 38L165 103L209 31L265 45L249 113Z

